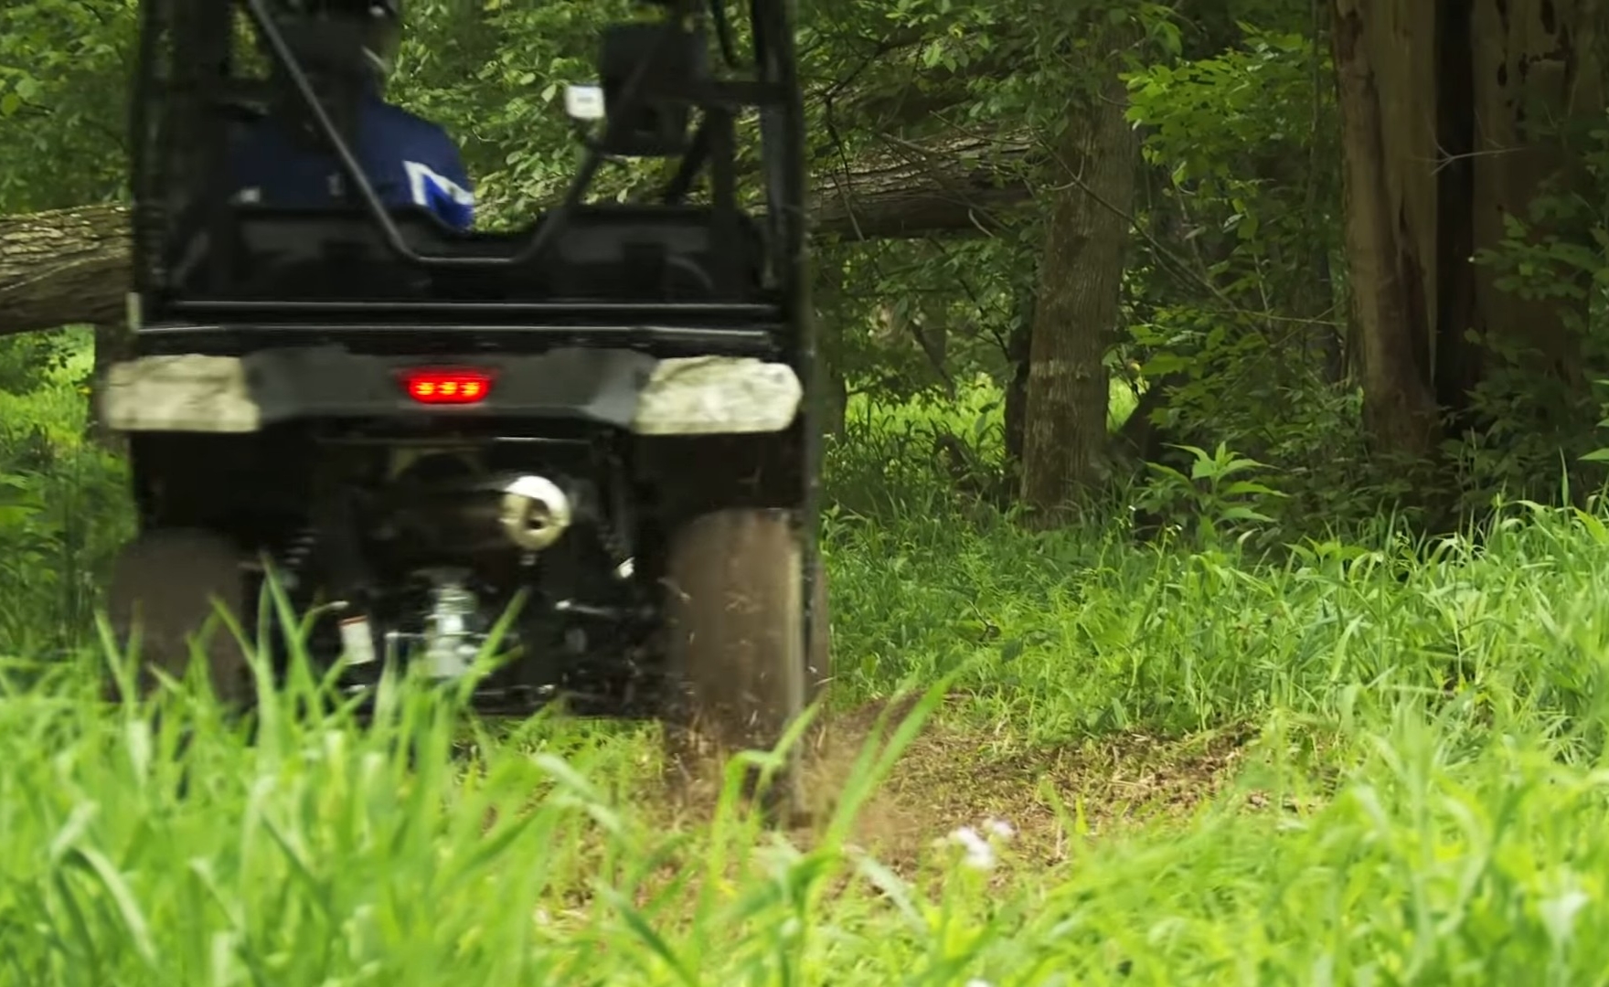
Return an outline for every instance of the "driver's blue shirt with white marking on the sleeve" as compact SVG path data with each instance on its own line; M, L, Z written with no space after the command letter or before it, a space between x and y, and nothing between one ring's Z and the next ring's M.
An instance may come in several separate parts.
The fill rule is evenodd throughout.
M388 206L423 206L459 230L475 222L475 193L459 146L436 124L368 96L352 149ZM291 143L274 121L257 124L237 145L233 175L237 201L285 207L327 206L344 183L335 154Z

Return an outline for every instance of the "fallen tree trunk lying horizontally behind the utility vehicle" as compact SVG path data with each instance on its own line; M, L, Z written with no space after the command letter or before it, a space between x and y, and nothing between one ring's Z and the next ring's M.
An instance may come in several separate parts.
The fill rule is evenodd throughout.
M901 145L816 178L817 235L851 240L977 235L1028 201L1025 143ZM82 206L0 217L0 336L111 323L129 291L129 211Z

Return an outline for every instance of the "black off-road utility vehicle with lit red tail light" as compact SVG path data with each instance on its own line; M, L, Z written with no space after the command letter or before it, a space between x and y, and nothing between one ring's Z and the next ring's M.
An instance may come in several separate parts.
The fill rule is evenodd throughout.
M180 674L214 601L256 627L267 571L344 688L459 678L515 612L488 711L647 701L721 743L782 735L827 675L803 111L787 2L739 2L603 31L570 93L584 162L516 231L381 201L344 104L362 40L306 0L143 2L135 352L101 413L140 516L109 609L145 666ZM277 116L344 198L232 193L233 141ZM674 177L589 201L621 158ZM238 645L209 641L249 704Z

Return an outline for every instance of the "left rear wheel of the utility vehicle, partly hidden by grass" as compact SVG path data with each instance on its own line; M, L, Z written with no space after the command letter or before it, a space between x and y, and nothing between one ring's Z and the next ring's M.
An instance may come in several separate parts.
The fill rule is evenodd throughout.
M183 678L190 661L190 640L209 630L201 641L212 691L227 706L251 701L251 666L240 643L217 620L209 620L222 603L243 619L246 577L235 545L203 530L159 529L134 540L117 556L108 588L108 616L119 645L134 633L140 641L138 690L156 686L151 669ZM117 698L117 685L108 694Z

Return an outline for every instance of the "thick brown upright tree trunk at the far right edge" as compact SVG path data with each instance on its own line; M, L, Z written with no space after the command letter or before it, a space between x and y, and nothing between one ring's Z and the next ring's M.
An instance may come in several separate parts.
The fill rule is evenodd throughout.
M1429 455L1492 347L1580 394L1585 301L1527 297L1472 264L1540 195L1585 191L1559 127L1603 113L1603 0L1332 0L1347 260L1376 445ZM1551 188L1549 188L1551 185ZM1591 248L1585 230L1545 230ZM1471 339L1474 336L1474 341Z

